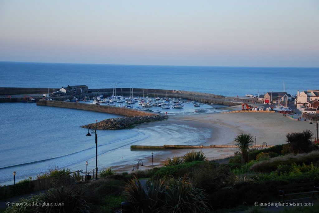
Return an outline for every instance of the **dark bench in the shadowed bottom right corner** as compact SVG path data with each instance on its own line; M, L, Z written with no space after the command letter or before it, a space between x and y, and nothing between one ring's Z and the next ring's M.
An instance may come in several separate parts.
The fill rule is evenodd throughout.
M277 186L277 189L279 194L279 202L281 197L283 197L283 201L285 201L285 197L289 195L312 194L314 197L315 193L319 194L319 187L315 187L313 182Z

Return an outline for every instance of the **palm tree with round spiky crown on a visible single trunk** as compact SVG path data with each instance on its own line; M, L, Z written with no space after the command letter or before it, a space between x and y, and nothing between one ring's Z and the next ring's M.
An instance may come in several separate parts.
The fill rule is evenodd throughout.
M234 139L235 146L238 147L238 151L241 154L241 162L247 163L248 162L248 150L250 147L253 146L253 136L251 134L241 133L237 135Z

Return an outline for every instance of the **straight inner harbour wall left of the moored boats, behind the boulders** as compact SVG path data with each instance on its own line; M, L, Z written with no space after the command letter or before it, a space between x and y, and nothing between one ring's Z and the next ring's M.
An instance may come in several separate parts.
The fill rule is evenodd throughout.
M76 102L65 102L65 101L56 101L56 100L39 100L37 101L38 106L55 106L55 107L63 107L70 109L81 109L81 110L89 110L101 113L110 113L117 115L124 115L129 117L134 116L152 116L155 113L124 108L124 107L115 107L115 106L103 106L96 104L84 104L84 103L76 103Z

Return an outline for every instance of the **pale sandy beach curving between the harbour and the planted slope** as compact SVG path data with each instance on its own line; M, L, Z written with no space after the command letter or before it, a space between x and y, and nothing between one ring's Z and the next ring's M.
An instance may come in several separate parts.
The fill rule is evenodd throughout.
M239 110L240 106L231 106L225 110ZM187 125L199 129L209 129L211 132L208 140L198 143L194 139L193 145L233 145L233 139L241 133L249 133L256 136L256 145L266 142L268 145L278 145L286 143L288 132L297 132L309 129L315 133L315 124L309 124L309 120L291 120L281 113L205 113L195 115L170 115L168 120L161 122L146 123L136 126L143 131L148 127L158 125ZM180 129L183 131L183 129ZM163 132L165 134L165 132ZM182 138L181 138L182 140ZM167 157L174 155L182 156L189 152L189 149L169 150L166 154L156 155L156 150L145 150L154 152L153 165L159 166ZM222 159L234 155L235 148L204 148L203 152L209 160ZM152 157L143 159L145 168L151 165ZM114 167L117 171L130 171L131 165Z

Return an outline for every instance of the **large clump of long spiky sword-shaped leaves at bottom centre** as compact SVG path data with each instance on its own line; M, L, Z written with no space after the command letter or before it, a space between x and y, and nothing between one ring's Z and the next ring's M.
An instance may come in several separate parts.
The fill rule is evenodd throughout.
M125 195L133 212L207 212L204 191L197 189L187 178L152 179L146 189L136 178L125 187Z

